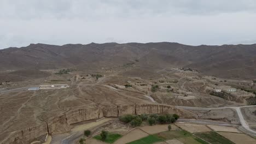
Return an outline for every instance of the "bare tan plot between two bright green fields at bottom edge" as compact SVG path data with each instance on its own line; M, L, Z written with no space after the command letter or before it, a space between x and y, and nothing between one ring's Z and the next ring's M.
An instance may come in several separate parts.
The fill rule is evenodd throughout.
M145 137L145 136L148 136L148 134L142 131L141 129L135 129L130 131L130 133L128 133L127 135L124 135L123 137L115 141L114 144L128 143L131 141L141 139L142 137Z

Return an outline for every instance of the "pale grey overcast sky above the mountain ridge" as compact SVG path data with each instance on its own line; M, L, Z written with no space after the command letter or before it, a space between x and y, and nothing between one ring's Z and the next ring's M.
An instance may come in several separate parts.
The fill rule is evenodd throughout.
M0 49L159 41L256 43L256 1L0 0Z

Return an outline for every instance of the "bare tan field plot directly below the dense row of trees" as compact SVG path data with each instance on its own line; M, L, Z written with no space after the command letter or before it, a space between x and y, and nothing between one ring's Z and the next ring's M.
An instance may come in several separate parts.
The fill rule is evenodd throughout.
M178 127L176 127L176 125L171 124L172 126L172 130L176 130L178 129ZM156 133L160 133L162 131L167 131L168 130L168 124L157 124L157 125L153 125L153 126L144 126L141 127L139 129L142 129L143 131L145 131L148 134L156 134Z

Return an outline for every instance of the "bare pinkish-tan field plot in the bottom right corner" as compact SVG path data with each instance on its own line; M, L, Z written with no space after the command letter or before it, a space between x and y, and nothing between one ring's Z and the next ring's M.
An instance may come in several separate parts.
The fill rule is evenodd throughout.
M236 133L226 133L226 132L219 132L219 134L223 135L224 137L228 138L232 142L236 144L255 144L256 140L246 134L236 134Z

